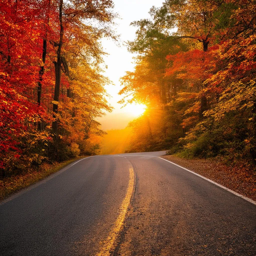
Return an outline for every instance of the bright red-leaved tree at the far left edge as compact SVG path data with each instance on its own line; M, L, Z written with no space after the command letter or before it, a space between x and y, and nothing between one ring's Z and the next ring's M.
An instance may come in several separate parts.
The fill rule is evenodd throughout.
M1 45L1 165L22 156L21 145L25 138L33 137L38 114L47 116L38 108L33 92L38 81L40 62L39 9L34 1L0 2ZM42 138L46 139L47 136ZM24 156L26 158L26 156Z

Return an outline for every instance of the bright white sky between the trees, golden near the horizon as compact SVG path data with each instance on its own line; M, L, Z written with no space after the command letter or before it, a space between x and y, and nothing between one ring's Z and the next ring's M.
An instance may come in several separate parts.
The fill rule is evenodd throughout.
M125 71L133 71L133 57L136 56L128 52L125 42L135 38L136 27L130 26L134 20L149 18L150 8L154 5L160 7L163 0L113 0L114 12L119 14L116 22L116 33L120 35L119 45L111 39L102 39L103 49L109 54L104 56L105 65L108 66L105 76L114 83L114 85L106 86L107 92L112 96L108 98L108 102L114 107L112 113L107 113L102 118L98 119L102 123L102 129L123 129L129 121L138 116L142 112L141 106L127 105L121 108L122 105L117 102L122 99L118 92L122 88L120 85L120 77L125 75ZM138 111L136 111L138 110Z

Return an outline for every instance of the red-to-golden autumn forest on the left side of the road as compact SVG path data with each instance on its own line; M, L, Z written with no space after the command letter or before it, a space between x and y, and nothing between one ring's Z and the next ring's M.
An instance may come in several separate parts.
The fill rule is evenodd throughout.
M1 0L0 10L0 176L99 153L112 1Z

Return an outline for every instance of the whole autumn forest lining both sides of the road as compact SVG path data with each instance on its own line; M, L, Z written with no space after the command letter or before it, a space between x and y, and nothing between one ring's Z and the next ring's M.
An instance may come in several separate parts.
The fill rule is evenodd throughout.
M101 38L118 40L113 7L111 0L0 0L1 178L102 152L97 118L112 107ZM254 168L255 7L166 0L151 18L134 21L127 45L136 65L120 80L119 103L146 111L114 146Z

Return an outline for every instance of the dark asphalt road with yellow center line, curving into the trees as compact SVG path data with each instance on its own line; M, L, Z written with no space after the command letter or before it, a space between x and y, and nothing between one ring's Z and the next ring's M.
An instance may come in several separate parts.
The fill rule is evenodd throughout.
M157 156L88 157L0 205L0 255L256 255L256 205Z

